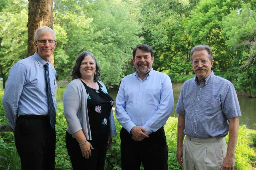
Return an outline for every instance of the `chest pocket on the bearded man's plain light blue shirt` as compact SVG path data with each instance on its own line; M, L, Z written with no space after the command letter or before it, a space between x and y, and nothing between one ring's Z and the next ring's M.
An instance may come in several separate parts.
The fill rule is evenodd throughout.
M145 90L146 104L159 104L160 103L160 89L146 89Z

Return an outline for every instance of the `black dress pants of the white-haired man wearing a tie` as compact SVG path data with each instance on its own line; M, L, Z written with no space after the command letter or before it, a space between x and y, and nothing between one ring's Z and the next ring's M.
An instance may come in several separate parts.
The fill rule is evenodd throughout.
M14 137L22 170L54 170L56 132L48 116L19 116Z

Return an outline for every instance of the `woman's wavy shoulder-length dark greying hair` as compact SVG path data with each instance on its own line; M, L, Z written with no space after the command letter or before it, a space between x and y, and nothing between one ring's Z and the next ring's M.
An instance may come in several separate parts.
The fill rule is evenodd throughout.
M72 80L77 79L77 78L81 78L81 73L79 71L80 66L81 66L82 61L84 60L84 57L86 57L88 55L90 55L93 58L94 62L95 62L95 73L94 73L94 76L93 76L93 81L97 82L97 81L101 80L100 66L98 65L98 62L97 62L95 56L89 51L81 52L78 55L78 57L76 58L76 63L75 63L75 66L73 67L73 70L72 70L72 73L71 73Z

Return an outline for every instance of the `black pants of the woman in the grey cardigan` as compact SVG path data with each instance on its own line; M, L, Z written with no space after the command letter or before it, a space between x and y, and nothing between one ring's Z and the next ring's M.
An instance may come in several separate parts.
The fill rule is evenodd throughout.
M91 138L92 140L88 142L91 143L93 149L91 149L91 156L86 159L82 155L76 138L66 131L66 148L73 170L104 170L108 134L92 135Z

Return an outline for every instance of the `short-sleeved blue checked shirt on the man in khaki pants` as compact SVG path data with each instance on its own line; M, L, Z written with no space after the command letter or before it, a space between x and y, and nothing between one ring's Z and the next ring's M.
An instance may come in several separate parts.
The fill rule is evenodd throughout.
M226 136L227 119L241 116L233 84L213 71L200 84L196 77L183 84L175 111L185 115L184 134L203 139Z

